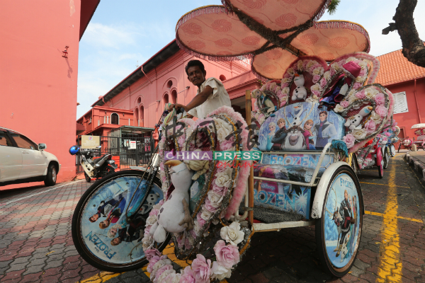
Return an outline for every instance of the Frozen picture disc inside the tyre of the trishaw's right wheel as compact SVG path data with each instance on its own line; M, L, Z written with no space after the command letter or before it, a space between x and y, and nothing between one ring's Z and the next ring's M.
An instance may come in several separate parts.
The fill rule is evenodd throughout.
M350 176L342 173L329 187L324 212L326 253L338 268L346 266L356 250L359 213L356 185Z

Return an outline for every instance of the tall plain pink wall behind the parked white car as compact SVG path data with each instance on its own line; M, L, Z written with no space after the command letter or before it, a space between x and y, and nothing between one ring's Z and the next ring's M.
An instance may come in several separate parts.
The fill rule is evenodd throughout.
M0 125L47 144L75 175L79 0L3 0L0 8ZM62 50L69 46L68 59Z

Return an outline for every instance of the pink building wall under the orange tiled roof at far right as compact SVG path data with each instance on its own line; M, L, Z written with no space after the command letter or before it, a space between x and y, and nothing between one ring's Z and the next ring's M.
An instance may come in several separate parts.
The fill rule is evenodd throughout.
M409 112L395 114L393 117L394 120L398 123L398 126L404 129L405 137L415 137L416 140L414 130L410 128L414 124L419 124L419 113L421 122L425 123L425 79L422 78L416 80L417 104L414 98L414 80L385 87L388 88L392 93L400 93L402 91L406 92L407 108ZM419 113L416 105L419 105Z

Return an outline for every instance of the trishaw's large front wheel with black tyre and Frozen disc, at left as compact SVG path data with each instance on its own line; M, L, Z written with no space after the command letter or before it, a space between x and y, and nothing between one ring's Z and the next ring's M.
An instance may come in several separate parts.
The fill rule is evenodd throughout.
M82 195L72 216L72 240L86 262L110 272L135 270L148 263L142 250L145 224L164 195L158 178L147 189L147 175L134 170L112 173ZM108 225L103 224L107 219ZM170 239L169 233L157 248L162 251Z

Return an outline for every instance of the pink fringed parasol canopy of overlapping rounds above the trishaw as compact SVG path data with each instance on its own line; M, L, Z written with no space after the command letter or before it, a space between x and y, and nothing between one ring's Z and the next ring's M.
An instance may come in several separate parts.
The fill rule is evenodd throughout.
M315 55L331 62L342 54L368 52L368 32L348 21L322 21L329 0L225 0L182 16L176 42L208 60L252 59L260 79L282 79L296 57Z

